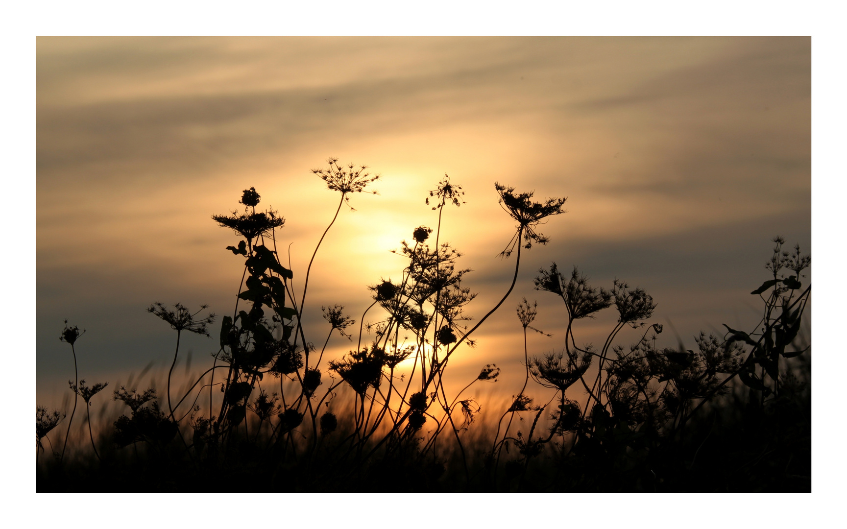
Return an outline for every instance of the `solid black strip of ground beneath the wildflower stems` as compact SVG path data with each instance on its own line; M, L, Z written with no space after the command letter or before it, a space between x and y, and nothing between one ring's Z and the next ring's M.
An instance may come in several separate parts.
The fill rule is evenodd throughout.
M633 449L626 435L547 445L526 458L512 447L499 461L487 444L421 457L408 443L363 460L338 448L340 432L308 453L230 444L191 458L179 440L66 456L42 455L37 492L811 492L811 399L761 406L738 392L702 413L677 439ZM484 438L481 436L480 438ZM104 443L108 447L108 443ZM141 446L139 446L141 445ZM490 448L490 447L489 447Z

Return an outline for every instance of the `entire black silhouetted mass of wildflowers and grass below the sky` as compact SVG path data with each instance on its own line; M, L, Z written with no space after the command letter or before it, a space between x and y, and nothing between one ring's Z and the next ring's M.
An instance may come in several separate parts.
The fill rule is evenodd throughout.
M165 394L113 390L113 400L128 410L97 436L91 400L108 383L89 387L79 379L75 344L82 333L65 322L60 339L74 355L74 408L59 451L49 435L64 412L36 407L38 490L811 490L811 345L800 333L811 296L803 272L811 259L799 246L783 251L784 240L774 240L771 277L752 292L762 302L756 328L700 333L693 350L681 341L676 348L657 344L663 328L650 323L656 303L644 289L617 279L611 289L595 287L577 267L563 273L555 262L541 269L534 287L562 300L563 343L549 354L530 354L528 330L544 332L533 327L537 303L524 298L515 327L523 331L523 388L496 412L495 427L480 430L474 425L480 405L463 395L473 384L495 381L500 369L480 366L478 376L448 395L447 367L511 295L522 251L549 242L538 226L562 214L566 199L535 202L533 193L495 184L515 221L501 251L513 257L514 270L500 300L471 326L465 311L476 294L462 286L470 270L440 240L445 208L464 203L462 187L445 175L425 199L437 212L435 228L421 225L411 241L401 241L397 253L407 260L401 277L368 287L371 302L357 318L343 306L321 307L329 330L318 349L321 339L312 341L303 325L309 276L341 206L352 207L352 195L370 192L379 179L366 169L330 158L328 168L313 170L339 201L302 292L277 251L285 219L257 209L257 190L244 190L243 210L214 215L239 238L227 254L243 260L231 315L217 326L215 315L204 314L208 306L153 303L148 311L176 332ZM578 345L574 322L612 307L617 321L604 342ZM368 314L377 321L366 325ZM617 344L624 328L638 332L634 344ZM172 394L184 331L213 338L219 349L187 391ZM349 341L349 352L324 358L334 334ZM412 365L402 376L401 362ZM78 397L86 404L91 450L78 444L74 457L65 457ZM37 457L46 451L43 439L54 457Z

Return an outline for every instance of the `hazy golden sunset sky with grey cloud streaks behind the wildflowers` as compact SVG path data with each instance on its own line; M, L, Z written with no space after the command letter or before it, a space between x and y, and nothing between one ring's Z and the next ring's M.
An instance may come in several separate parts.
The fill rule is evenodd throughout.
M810 250L811 39L38 37L39 404L69 393L65 319L86 329L80 377L115 384L169 366L174 332L147 314L153 301L232 311L241 259L224 248L237 238L211 215L248 187L285 217L278 245L301 281L337 206L311 171L328 157L381 179L379 195L342 207L316 257L306 315L316 343L328 330L320 306L359 320L367 286L399 278L390 250L435 226L424 200L445 174L465 203L446 207L441 240L473 269L463 284L479 293L474 320L514 266L497 257L514 226L494 183L567 196L567 213L540 228L550 243L523 254L512 295L448 370L462 387L495 362L495 388L514 394L522 297L538 301L534 327L553 334L530 336L529 354L562 346L561 301L532 288L551 262L596 286L644 288L667 346L693 348L722 323L752 330L750 290L767 278L772 237ZM601 341L606 312L580 322L577 340ZM183 347L197 368L214 344ZM336 337L330 351L353 346Z

